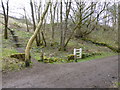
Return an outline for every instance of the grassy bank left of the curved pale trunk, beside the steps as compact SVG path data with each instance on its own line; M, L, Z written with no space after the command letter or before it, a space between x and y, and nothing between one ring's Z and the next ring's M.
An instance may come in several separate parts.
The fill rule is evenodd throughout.
M18 51L12 47L13 44L9 40L3 39L2 55L0 56L0 62L2 62L2 72L20 70L24 67L24 62L19 61L15 58L10 58L9 56Z

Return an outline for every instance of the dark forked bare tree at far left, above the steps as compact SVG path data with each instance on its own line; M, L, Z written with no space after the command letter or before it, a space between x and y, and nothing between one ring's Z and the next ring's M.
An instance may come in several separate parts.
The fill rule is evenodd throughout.
M3 8L3 15L4 15L4 23L5 23L5 29L4 29L4 38L8 39L8 12L9 12L9 0L7 0L7 8L5 9L5 6L3 4L3 1L1 0L2 8Z

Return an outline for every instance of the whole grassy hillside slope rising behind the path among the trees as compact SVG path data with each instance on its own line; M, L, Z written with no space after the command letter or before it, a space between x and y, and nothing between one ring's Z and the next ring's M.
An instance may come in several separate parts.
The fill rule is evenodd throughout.
M3 19L1 16L0 16L0 18ZM16 60L14 60L14 58L10 58L9 56L12 54L21 52L21 50L24 53L26 44L27 44L29 38L33 34L32 26L29 26L30 32L26 32L25 23L21 23L21 22L19 22L19 20L16 20L14 18L9 18L9 28L14 30L15 35L18 36L18 43L20 44L20 47L19 47L19 49L17 49L17 47L15 46L15 42L13 41L12 35L10 34L10 31L8 31L9 39L5 40L4 38L2 38L3 47L2 47L2 57L0 59L3 60L3 70L8 70L8 69L14 70L16 68L19 69L19 68L21 68L21 66L23 66L23 65L19 65L19 64L21 64L21 62L18 63L19 60L16 61ZM4 27L1 25L0 29L4 30ZM59 42L59 39L60 39L59 32L60 32L59 28L56 27L55 28L55 37L56 38L54 40L55 43L53 46L51 46L51 44L50 44L51 43L50 25L49 24L46 25L45 39L47 42L47 47L44 47L44 45L37 47L34 42L32 50L31 50L32 58L37 61L40 60L41 59L40 58L41 50L42 50L46 58L56 59L56 62L54 62L54 63L70 63L73 61L68 62L67 57L70 54L73 54L74 48L82 48L83 49L83 54L84 54L85 58L78 60L78 62L117 54L117 53L114 53L112 50L110 50L107 47L99 46L99 45L92 44L90 42L83 41L81 38L79 38L79 39L72 38L68 44L66 51L58 51L59 43L60 43ZM88 36L89 39L96 40L99 42L105 42L105 43L110 44L113 47L118 47L117 37L118 37L117 30L104 31L104 30L100 30L100 29L99 29L99 31L92 32ZM93 55L93 56L91 56L91 55ZM11 64L12 60L13 60L13 65ZM6 63L6 61L8 63ZM17 63L17 65L16 65L16 63ZM11 68L9 68L9 64L10 64Z

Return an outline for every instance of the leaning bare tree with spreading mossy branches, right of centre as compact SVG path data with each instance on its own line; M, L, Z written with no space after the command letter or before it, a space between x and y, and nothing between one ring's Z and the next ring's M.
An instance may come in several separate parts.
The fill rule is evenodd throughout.
M78 8L78 11L79 11L79 13L78 13L78 16L79 16L79 19L77 19L77 22L76 22L76 18L75 19L73 19L72 18L72 16L71 16L71 18L72 18L72 21L73 21L73 23L75 24L75 27L73 28L73 31L71 32L71 34L69 35L69 37L68 37L68 39L66 40L66 42L65 42L65 45L64 45L64 47L66 47L67 46L67 44L69 43L69 41L71 40L71 38L72 38L72 36L74 35L74 33L75 33L75 31L77 32L76 34L81 34L80 33L80 30L81 30L81 27L83 26L83 25L90 25L90 23L93 23L97 18L95 18L95 19L93 19L93 20L89 20L89 17L91 17L91 15L94 13L94 10L91 10L91 12L90 13L88 13L88 11L87 10L89 10L89 9L92 9L92 7L94 6L94 5L96 5L96 4L91 4L90 6L88 6L85 10L86 11L82 11L82 9L84 9L84 7L83 7L83 5L84 5L84 3L82 3L82 2L76 2L76 4L77 4L77 8ZM74 12L74 14L76 15L76 11L75 10L73 10L73 8L72 8L72 11ZM85 16L83 17L83 13L86 13L86 14L84 14ZM101 14L101 13L99 13L99 14ZM89 22L88 22L89 21ZM86 31L84 31L83 32L83 35L84 36L86 36L86 35L88 35L88 34L90 34L93 30L94 30L94 28L95 28L95 26L93 27L93 28L91 28L90 30L88 29L88 30L86 30ZM79 30L79 31L77 31L77 30Z

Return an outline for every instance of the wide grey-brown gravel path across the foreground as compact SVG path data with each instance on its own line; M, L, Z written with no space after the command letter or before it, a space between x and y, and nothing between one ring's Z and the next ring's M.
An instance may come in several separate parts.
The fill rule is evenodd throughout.
M118 56L68 64L42 64L3 73L3 88L109 88L118 79Z

